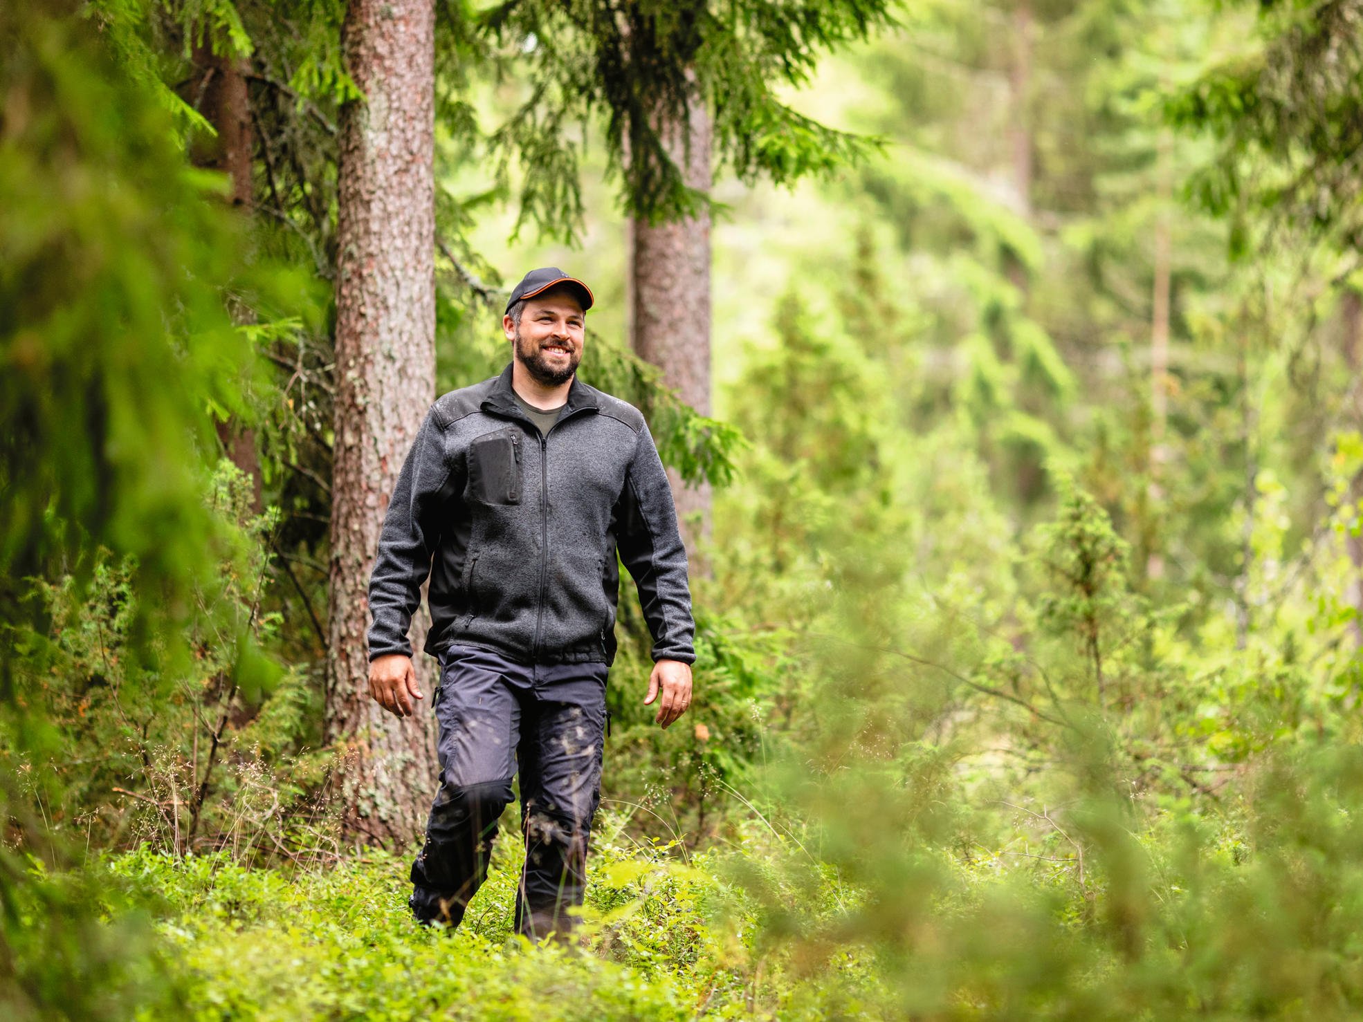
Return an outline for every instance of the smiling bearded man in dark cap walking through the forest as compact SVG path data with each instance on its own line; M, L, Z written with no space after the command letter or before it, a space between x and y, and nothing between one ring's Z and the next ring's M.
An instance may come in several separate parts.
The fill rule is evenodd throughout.
M398 476L369 580L369 694L423 698L406 632L431 576L425 649L440 789L412 867L418 921L458 925L487 875L519 767L525 871L517 929L567 932L600 799L616 553L653 635L646 704L691 704L686 549L643 416L577 379L592 292L556 267L511 292L500 376L435 402Z

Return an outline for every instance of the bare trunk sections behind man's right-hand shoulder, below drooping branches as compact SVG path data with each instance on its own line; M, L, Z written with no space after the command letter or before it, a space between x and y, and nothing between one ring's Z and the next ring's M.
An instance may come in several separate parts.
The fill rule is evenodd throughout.
M695 98L687 123L667 123L661 134L686 183L710 191L710 116ZM687 142L690 140L690 146ZM630 232L631 332L635 353L662 369L682 401L710 414L710 213L650 226L634 219ZM694 555L709 531L710 486L683 486L668 469L682 534Z

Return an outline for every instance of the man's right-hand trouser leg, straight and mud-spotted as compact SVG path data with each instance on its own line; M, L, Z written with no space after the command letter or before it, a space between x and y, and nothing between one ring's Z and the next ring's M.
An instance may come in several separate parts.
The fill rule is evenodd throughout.
M515 925L532 939L567 933L586 890L592 816L601 799L605 664L536 669L534 699L523 707L521 827L525 868Z

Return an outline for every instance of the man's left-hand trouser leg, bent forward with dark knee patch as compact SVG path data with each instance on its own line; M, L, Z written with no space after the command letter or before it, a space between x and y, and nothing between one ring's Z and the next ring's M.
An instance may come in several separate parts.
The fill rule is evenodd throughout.
M435 700L440 789L412 865L412 913L458 925L488 873L497 818L511 801L529 668L472 647L440 657Z

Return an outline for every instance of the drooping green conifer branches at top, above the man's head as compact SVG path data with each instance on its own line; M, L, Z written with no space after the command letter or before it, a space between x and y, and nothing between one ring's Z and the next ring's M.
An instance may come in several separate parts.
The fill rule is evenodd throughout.
M564 241L581 233L581 146L566 135L577 124L585 132L604 121L622 204L653 222L707 202L687 187L683 147L664 127L684 124L695 106L713 117L720 165L744 181L761 174L791 184L866 155L872 142L793 110L777 86L807 82L821 53L866 38L889 16L880 0L492 7L485 30L529 65L527 99L491 138L503 180L512 155L525 170L517 228L534 221Z

